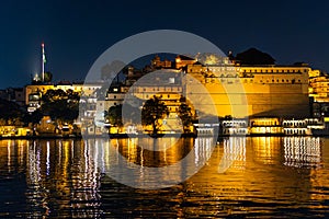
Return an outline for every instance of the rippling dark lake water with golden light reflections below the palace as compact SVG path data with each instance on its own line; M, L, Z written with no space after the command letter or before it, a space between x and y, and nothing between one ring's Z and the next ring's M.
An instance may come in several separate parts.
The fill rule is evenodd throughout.
M154 143L148 141L1 140L0 217L329 216L329 139L236 137L216 143L207 138L186 138L162 151L138 147ZM185 169L190 169L185 165L150 177L159 183L173 177L183 181L170 187L134 188L106 172L122 155L145 183L146 170L179 164L191 151L195 163L209 158L192 177L183 181ZM115 175L121 182L140 183L129 176L121 172Z

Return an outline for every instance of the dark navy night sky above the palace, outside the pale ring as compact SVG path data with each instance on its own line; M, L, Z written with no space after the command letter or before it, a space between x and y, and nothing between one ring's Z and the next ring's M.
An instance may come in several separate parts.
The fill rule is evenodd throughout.
M141 3L144 2L144 3ZM277 64L329 71L329 1L16 1L0 2L0 88L41 72L41 43L54 79L83 79L116 42L145 31L197 34L234 54L250 47Z

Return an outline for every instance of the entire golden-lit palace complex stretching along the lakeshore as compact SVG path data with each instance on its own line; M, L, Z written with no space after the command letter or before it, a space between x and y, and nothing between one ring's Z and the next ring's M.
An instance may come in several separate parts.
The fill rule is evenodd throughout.
M163 70L161 78L148 77L149 72ZM292 66L240 66L234 64L228 57L215 55L204 55L203 57L190 58L177 56L174 61L161 60L156 56L150 66L144 70L127 67L125 79L112 84L103 100L97 99L97 90L102 89L102 83L94 84L64 84L58 85L27 85L25 88L26 104L31 111L42 104L37 93L44 93L47 89L71 89L82 92L89 96L90 104L86 119L95 117L95 122L103 120L104 112L111 106L122 104L126 101L127 92L138 100L146 101L154 95L158 95L169 106L170 114L167 117L168 126L171 130L178 127L175 124L177 111L180 102L184 100L197 115L206 116L231 116L234 118L250 118L250 124L268 124L273 122L274 132L294 134L291 130L292 119L305 119L320 117L324 114L316 111L314 103L324 103L329 100L329 91L325 87L329 83L328 77L319 70L311 69L306 64ZM151 76L149 76L151 77ZM182 99L183 97L183 99ZM211 101L208 101L211 97ZM100 111L99 111L100 110ZM194 112L193 112L194 113ZM269 118L260 123L257 118ZM253 120L252 120L253 119ZM285 123L285 129L277 128L284 119L292 122ZM298 123L299 124L299 123ZM235 124L229 124L234 126ZM97 126L101 126L101 124ZM263 125L260 125L263 126ZM306 124L307 126L307 124ZM97 127L91 127L95 131ZM137 127L138 128L138 127ZM247 131L246 125L242 131ZM305 127L302 127L305 129ZM100 129L100 128L99 128ZM280 129L280 130L279 130ZM299 130L306 134L306 130ZM264 128L250 128L250 130L266 130Z

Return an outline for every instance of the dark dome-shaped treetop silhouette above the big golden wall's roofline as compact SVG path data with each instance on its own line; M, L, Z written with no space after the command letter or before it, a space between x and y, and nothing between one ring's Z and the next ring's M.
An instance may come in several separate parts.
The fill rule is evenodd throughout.
M275 59L269 54L262 53L256 48L250 48L246 51L237 54L237 62L240 65L274 65Z

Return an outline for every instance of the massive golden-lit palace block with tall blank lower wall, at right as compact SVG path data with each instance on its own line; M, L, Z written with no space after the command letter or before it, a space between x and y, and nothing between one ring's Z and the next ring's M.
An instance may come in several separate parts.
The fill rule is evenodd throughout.
M186 66L213 97L218 116L305 118L310 116L307 66ZM186 85L188 94L197 92ZM198 96L203 96L200 93ZM205 107L206 108L206 107ZM211 113L211 112L207 112Z

